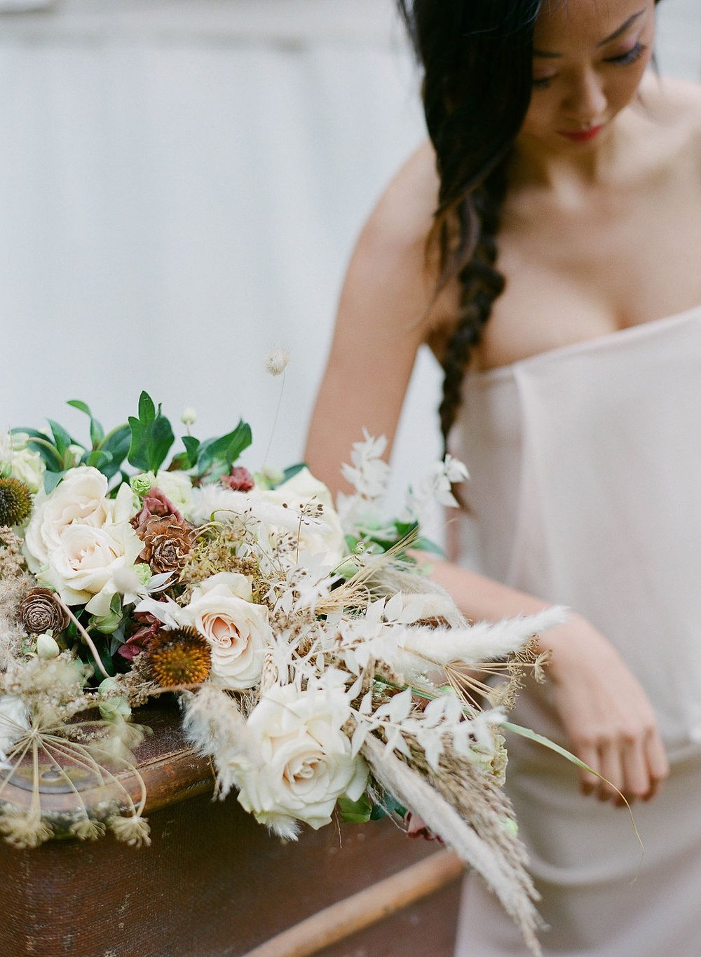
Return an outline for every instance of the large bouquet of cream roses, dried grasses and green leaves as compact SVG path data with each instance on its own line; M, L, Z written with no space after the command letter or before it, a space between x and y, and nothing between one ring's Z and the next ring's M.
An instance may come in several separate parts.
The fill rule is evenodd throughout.
M237 464L252 442L244 422L199 441L187 411L173 454L145 392L107 434L70 405L89 417L85 444L52 420L0 436L0 832L19 848L105 829L148 843L145 794L120 782L148 730L132 709L172 692L218 796L236 790L286 840L335 813L426 828L537 951L500 726L524 669L539 669L535 636L561 615L468 625L417 562L432 547L422 506L454 503L464 466L439 463L386 521L382 439L354 446L344 475L356 494L337 511L303 466ZM471 669L505 680L481 685ZM32 802L14 807L3 790L28 767ZM42 807L47 770L75 790L68 822ZM78 771L104 786L99 812L80 804Z

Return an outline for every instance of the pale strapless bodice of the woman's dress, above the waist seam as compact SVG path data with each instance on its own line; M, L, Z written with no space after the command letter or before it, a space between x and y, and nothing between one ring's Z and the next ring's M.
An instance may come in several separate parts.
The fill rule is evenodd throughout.
M454 432L477 567L584 614L701 751L701 306L469 376Z

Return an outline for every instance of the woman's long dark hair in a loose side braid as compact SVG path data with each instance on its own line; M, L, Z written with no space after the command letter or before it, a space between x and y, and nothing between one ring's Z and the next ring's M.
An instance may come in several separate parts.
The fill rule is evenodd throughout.
M531 101L534 26L546 2L397 0L424 67L424 112L440 177L427 260L437 252L436 294L460 280L458 315L442 356L446 445L471 349L505 285L495 267L495 237L509 156Z

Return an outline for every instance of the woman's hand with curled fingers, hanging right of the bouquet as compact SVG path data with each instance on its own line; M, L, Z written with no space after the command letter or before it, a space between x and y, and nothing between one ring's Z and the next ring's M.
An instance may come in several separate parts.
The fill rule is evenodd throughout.
M577 757L610 782L580 772L581 791L623 806L649 800L669 773L657 720L640 682L588 621L573 615L541 637L552 652L553 703ZM613 785L614 787L611 787Z

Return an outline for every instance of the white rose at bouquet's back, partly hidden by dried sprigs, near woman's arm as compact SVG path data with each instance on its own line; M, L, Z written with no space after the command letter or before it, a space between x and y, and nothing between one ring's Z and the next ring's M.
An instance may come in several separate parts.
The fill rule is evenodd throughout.
M295 510L310 501L323 505L323 512L318 520L304 520L298 525L299 549L313 555L323 554L327 562L338 565L347 552L340 519L328 488L315 479L308 468L300 469L292 479L275 489L254 494L262 501L287 505Z

